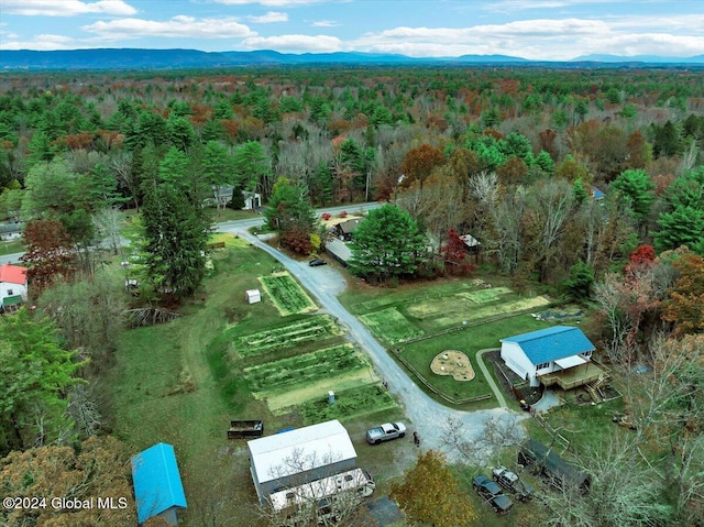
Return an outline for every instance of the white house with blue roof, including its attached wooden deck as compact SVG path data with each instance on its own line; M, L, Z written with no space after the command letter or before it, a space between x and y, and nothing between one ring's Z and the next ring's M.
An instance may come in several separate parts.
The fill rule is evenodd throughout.
M580 328L554 326L501 339L501 358L531 386L563 389L593 383L607 374L592 362L594 344Z

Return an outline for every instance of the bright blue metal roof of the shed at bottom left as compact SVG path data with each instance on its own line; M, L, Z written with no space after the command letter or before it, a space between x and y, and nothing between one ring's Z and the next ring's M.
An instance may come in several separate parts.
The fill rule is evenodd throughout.
M170 507L186 508L174 447L156 443L132 458L132 481L139 523Z

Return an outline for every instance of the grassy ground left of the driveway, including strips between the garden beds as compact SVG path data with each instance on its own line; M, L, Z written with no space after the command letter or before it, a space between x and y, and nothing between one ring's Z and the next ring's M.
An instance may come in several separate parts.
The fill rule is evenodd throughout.
M403 419L396 402L380 386L371 369L358 367L359 363L351 375L359 374L359 378L317 387L315 383L304 385L315 392L309 397L296 394L296 386L276 393L273 384L265 385L266 378L261 378L262 393L270 389L272 398L287 400L286 394L292 394L290 402L300 396L300 403L286 410L273 413L268 400L254 397L244 370L340 347L344 340L336 331L272 353L233 354L233 342L244 336L324 317L292 315L284 319L272 303L248 304L244 290L257 287L256 277L278 265L231 234L216 235L213 241L224 241L226 249L212 253L215 270L204 289L182 306L183 317L121 336L114 363L106 366L98 383L107 405L106 427L134 452L158 441L174 444L188 499L188 509L179 514L184 525L265 525L257 519L246 442L227 439L230 419L263 419L271 433L339 418L358 450L358 464L373 473L375 468L384 468L374 474L376 495L388 492L389 481L413 462L413 443L396 441L372 448L364 432L378 422ZM366 359L354 350L345 356ZM270 367L268 372L273 371ZM323 376L320 371L318 378ZM327 404L328 389L336 391L334 405Z

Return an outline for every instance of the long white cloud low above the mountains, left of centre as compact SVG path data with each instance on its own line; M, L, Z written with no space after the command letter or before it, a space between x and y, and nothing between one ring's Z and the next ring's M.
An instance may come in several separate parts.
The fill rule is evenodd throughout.
M158 22L143 19L120 19L99 21L81 29L105 40L135 39L140 36L162 36L174 39L243 39L255 36L246 25L234 18L196 19L180 14Z

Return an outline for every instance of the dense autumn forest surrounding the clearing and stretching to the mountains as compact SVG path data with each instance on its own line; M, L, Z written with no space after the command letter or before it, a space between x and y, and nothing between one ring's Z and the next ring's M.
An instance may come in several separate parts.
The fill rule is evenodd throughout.
M371 215L360 243L395 229L415 261L381 272L358 253L352 272L392 286L495 273L591 301L604 360L663 372L631 400L642 444L663 452L642 473L664 471L672 510L623 525L703 525L703 152L704 76L680 68L4 73L0 216L25 222L38 307L0 323L3 375L24 383L0 387L6 472L43 463L30 449L44 444L84 441L82 458L46 453L67 473L125 455L90 439L102 420L84 380L109 365L134 301L97 245L117 253L132 237L153 286L141 299L172 308L204 279L212 208L242 208L243 191L304 254L324 238L315 207L382 200L398 207ZM479 240L479 259L459 234ZM122 487L121 470L81 495Z

